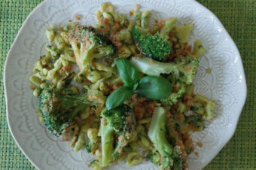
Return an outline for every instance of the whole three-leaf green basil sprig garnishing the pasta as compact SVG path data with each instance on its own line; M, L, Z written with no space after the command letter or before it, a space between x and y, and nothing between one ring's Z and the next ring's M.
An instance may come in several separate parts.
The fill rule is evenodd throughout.
M172 84L166 78L146 76L139 80L139 71L128 59L117 59L117 69L125 85L108 96L108 110L130 99L134 92L156 100L164 99L172 93Z

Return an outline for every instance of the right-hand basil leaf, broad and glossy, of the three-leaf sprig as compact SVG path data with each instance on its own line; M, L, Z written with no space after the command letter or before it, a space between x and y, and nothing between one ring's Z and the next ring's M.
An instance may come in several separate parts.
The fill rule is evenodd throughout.
M135 92L149 99L165 99L172 93L172 83L163 77L146 76L139 81Z

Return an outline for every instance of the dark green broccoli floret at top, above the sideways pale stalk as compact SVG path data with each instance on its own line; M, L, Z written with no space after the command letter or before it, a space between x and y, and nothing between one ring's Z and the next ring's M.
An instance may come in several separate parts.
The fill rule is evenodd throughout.
M145 29L138 26L134 26L132 29L133 40L137 47L139 47L139 50L150 58L165 60L166 56L171 53L172 43L167 41L167 39L163 39L158 32L154 35L145 32Z

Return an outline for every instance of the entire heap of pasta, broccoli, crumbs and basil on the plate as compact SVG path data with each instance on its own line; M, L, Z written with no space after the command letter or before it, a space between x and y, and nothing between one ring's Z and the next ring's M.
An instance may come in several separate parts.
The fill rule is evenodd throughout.
M205 50L200 40L188 43L193 25L178 26L176 17L152 23L150 15L117 14L104 3L96 26L46 31L49 45L29 77L38 115L76 152L95 155L91 168L150 160L187 169L190 132L215 116L215 101L194 93Z

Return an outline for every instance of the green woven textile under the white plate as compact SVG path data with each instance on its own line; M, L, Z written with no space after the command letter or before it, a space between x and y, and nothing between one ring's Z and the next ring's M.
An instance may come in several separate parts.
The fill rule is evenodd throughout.
M5 116L3 73L8 50L42 0L0 0L0 169L34 169L14 143ZM248 98L236 133L205 169L256 169L256 0L198 0L224 24L242 56Z

